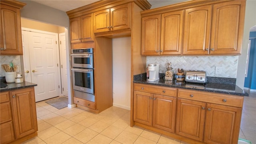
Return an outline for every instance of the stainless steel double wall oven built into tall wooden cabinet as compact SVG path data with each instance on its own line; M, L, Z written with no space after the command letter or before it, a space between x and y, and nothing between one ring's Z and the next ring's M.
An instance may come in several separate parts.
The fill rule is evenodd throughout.
M72 49L74 96L95 102L93 48Z

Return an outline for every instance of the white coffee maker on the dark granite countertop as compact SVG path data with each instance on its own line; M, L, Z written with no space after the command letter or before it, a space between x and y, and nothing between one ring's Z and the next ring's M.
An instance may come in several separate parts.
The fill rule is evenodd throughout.
M159 80L159 64L148 64L148 82Z

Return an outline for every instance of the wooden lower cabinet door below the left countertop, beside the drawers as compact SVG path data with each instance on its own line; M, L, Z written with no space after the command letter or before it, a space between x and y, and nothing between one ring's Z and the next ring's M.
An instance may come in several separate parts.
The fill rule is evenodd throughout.
M36 132L38 129L34 88L14 90L11 96L16 138Z

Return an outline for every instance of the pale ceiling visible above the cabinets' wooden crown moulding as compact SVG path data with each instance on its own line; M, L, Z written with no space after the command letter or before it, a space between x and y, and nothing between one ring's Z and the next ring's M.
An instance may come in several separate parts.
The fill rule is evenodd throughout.
M99 0L32 0L34 2L67 12ZM168 2L170 0L148 0L151 5Z

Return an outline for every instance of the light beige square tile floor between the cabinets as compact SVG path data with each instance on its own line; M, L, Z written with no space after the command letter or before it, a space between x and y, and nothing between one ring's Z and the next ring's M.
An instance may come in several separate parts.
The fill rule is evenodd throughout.
M112 106L100 114L80 108L58 110L36 103L38 136L23 144L187 144L137 126L130 127L130 110ZM256 144L256 92L244 98L240 138Z

